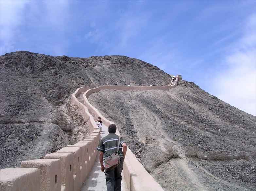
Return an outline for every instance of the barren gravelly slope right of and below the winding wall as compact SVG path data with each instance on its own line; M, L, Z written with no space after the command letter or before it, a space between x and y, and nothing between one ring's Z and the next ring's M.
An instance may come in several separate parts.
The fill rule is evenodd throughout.
M181 81L168 91L104 90L89 101L118 125L165 190L256 189L256 117L196 84Z

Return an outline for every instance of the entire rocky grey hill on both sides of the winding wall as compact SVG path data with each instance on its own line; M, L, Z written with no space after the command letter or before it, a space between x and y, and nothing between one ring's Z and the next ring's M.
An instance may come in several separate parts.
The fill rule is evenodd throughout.
M125 56L0 56L0 168L82 139L87 124L69 102L78 87L167 85L158 67ZM164 190L256 190L256 117L180 81L168 91L112 91L89 101L116 122Z

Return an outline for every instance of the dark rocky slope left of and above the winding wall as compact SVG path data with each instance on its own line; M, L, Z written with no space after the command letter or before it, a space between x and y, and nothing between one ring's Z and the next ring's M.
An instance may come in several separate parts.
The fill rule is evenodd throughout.
M0 56L0 169L86 136L86 123L68 99L78 87L166 85L170 78L125 56L70 58L27 51Z

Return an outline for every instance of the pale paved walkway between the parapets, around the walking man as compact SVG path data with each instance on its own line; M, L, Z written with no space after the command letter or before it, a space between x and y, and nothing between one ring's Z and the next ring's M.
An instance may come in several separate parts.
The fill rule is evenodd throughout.
M105 137L108 132L108 128L102 124L102 134L101 138ZM99 156L97 156L97 159L95 161L95 164L92 168L92 171L87 177L87 180L84 182L81 191L104 191L107 190L106 186L106 179L105 174L101 172L100 170L100 162L99 162ZM128 191L125 181L122 178L122 191Z

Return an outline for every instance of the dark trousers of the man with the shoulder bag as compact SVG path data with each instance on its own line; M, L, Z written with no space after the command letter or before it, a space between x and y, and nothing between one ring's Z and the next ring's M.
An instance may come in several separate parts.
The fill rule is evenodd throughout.
M120 158L120 164L114 169L106 169L107 191L121 191L121 172L123 171L124 158Z

